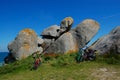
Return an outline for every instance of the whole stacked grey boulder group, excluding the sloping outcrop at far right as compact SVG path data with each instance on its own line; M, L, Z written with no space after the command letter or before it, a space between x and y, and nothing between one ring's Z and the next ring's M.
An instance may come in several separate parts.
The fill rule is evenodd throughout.
M41 33L42 38L31 29L24 29L8 45L8 50L16 60L26 58L36 51L44 54L77 52L97 33L99 24L92 19L84 20L74 29L72 24L73 19L66 17L61 21L60 26L52 25L45 29Z

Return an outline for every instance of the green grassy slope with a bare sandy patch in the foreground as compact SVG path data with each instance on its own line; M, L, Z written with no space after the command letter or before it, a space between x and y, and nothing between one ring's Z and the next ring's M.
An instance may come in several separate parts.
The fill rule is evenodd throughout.
M75 54L46 57L37 70L30 70L31 57L0 68L0 80L120 80L120 56L75 62Z

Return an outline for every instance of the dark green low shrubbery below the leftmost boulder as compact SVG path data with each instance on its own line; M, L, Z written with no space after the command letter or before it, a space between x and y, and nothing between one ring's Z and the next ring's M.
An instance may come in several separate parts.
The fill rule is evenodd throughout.
M33 59L32 57L28 57L21 61L16 61L14 63L10 63L3 67L0 67L0 74L14 73L14 72L19 72L23 70L30 70L32 66L33 66Z

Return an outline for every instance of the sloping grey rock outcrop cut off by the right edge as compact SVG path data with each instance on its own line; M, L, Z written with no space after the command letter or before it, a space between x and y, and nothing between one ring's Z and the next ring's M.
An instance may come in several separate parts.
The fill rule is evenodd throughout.
M113 29L109 34L101 37L90 46L98 50L100 54L119 53L120 54L120 26Z

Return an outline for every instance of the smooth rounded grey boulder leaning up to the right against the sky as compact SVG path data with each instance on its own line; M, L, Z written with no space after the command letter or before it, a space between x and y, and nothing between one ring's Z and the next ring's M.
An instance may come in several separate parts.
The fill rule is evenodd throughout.
M86 45L98 32L99 24L92 19L86 19L81 22L76 28L75 32L82 39L82 44Z

